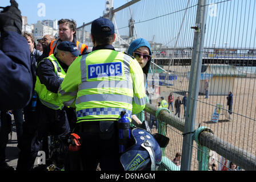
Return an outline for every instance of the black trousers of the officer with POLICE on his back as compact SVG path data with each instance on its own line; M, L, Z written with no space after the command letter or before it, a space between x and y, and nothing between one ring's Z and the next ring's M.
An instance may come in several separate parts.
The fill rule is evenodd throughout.
M83 131L82 129L86 127L87 131ZM92 129L90 130L90 128ZM99 121L78 123L74 131L82 140L80 156L83 171L95 171L98 163L102 171L123 171L119 160L116 126L110 139L102 138Z

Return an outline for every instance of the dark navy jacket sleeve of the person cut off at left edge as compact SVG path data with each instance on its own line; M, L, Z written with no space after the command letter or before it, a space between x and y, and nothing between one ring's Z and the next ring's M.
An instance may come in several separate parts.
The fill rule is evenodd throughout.
M17 32L2 32L1 36L0 110L22 109L33 90L29 45Z

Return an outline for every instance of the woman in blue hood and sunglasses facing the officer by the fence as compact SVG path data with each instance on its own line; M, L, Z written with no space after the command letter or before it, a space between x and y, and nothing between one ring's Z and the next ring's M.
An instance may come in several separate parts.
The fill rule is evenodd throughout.
M133 56L141 65L145 78L145 88L147 89L147 73L149 73L150 62L152 57L151 47L147 40L139 38L135 39L131 44L127 52L129 55ZM146 91L146 90L145 90ZM149 98L146 97L146 101L149 102ZM145 121L145 113L141 111L136 115L132 115L131 119L133 124L136 126L141 126L142 122Z

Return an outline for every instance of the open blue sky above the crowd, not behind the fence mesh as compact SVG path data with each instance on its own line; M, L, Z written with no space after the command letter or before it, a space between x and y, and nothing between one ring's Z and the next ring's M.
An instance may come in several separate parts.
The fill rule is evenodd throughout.
M105 0L16 0L27 23L37 23L44 19L74 19L77 27L103 15ZM129 0L130 1L130 0ZM113 1L114 9L127 3L127 0ZM1 0L0 6L9 6L10 0ZM45 7L45 11L44 11Z

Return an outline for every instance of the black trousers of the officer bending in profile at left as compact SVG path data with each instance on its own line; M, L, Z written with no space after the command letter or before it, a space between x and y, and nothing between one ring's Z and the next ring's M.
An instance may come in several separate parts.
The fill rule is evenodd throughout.
M65 136L70 132L65 110L54 110L37 101L36 111L28 107L25 110L23 135L17 170L31 170L41 146L43 137L47 135Z

